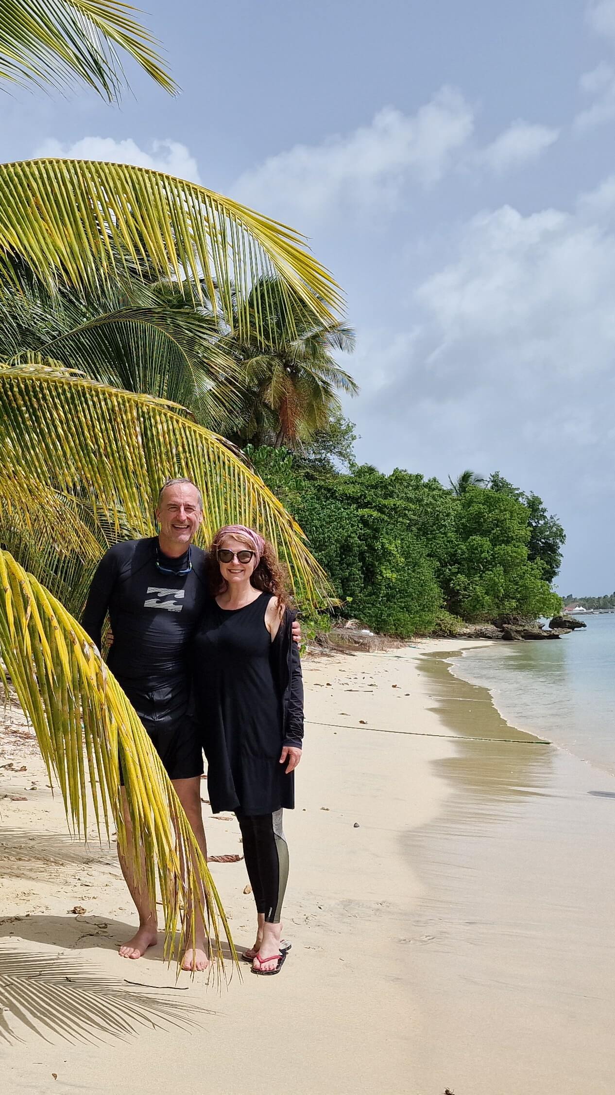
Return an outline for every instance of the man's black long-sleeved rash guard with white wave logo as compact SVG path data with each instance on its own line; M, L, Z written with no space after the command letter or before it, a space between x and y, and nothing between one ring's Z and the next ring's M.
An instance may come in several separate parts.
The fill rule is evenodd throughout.
M188 574L169 573L188 566L188 552L170 558L158 537L115 544L94 575L82 624L101 648L109 614L113 644L109 669L119 683L148 691L183 682L187 689L190 641L206 602L205 552L190 546ZM160 566L164 567L161 570Z

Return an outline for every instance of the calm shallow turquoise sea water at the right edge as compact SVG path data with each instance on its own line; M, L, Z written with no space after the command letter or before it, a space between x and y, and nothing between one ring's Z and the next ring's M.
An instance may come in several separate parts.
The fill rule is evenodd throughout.
M453 671L488 688L511 725L615 775L615 614L582 619L554 642L469 648Z

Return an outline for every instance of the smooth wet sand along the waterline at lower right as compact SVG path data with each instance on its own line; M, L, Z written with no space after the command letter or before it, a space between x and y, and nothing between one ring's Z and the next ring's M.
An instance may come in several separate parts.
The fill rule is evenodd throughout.
M433 1039L414 1040L421 1092L589 1095L615 1071L615 781L518 738L489 693L422 659L441 723L461 735L433 769L450 795L404 838L425 884L414 976Z

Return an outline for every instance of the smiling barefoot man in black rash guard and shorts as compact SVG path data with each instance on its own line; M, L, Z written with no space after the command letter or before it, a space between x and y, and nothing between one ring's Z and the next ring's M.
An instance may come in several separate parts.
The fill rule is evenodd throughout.
M202 520L202 498L187 479L170 480L156 507L158 537L115 544L94 575L83 627L101 648L108 612L113 644L108 666L146 727L173 781L177 797L207 858L200 806L202 752L188 716L189 650L204 603L209 596L206 554L193 544ZM299 633L294 635L299 641ZM124 816L130 838L130 816L123 787ZM134 937L119 948L124 958L140 958L158 940L158 919L130 853L119 856L121 873L139 913ZM195 947L184 955L184 969L208 966L206 933L199 915Z

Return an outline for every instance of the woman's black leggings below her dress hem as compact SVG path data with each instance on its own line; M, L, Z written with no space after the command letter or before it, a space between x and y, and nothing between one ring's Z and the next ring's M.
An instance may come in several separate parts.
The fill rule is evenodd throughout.
M256 911L265 913L268 924L279 924L288 881L288 844L282 832L282 811L236 814L236 817Z

